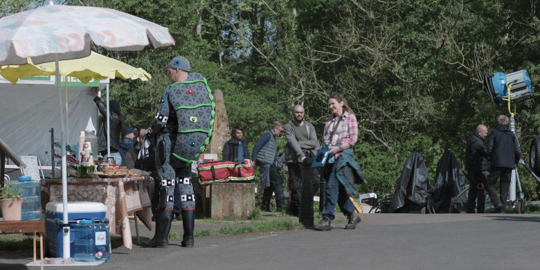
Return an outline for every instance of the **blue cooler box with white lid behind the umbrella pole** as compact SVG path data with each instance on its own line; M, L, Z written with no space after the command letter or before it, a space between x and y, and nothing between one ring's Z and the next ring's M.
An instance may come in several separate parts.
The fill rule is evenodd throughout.
M70 224L70 257L73 258L75 249L75 231L73 224L81 219L105 219L107 208L105 204L93 201L73 201L67 205L68 223ZM62 222L64 220L64 204L60 201L48 202L45 207L45 237L48 240L48 250L55 258L64 257L64 241L62 240Z

